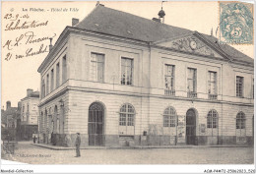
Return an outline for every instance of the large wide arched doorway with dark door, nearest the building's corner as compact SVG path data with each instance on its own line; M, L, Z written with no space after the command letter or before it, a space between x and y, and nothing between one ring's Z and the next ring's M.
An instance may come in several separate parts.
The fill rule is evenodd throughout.
M104 107L94 102L89 107L88 135L89 145L103 145L104 132Z

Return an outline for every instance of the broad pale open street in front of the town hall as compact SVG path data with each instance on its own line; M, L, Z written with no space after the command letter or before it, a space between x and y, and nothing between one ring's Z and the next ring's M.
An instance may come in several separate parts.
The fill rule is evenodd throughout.
M30 164L252 164L253 147L54 150L19 143L3 159Z

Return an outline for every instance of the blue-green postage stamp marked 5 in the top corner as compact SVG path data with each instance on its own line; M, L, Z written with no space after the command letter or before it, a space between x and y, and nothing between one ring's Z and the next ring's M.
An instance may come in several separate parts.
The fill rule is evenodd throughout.
M220 2L220 40L230 44L253 44L253 5Z

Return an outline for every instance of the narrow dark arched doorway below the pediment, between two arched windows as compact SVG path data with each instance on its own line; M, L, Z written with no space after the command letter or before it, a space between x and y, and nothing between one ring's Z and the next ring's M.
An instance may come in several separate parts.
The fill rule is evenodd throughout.
M186 114L186 144L196 145L196 113L189 109Z

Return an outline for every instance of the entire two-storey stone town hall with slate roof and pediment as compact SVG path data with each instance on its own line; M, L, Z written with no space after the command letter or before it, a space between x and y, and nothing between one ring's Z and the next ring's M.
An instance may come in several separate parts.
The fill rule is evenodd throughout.
M253 59L159 16L73 19L38 68L41 143L253 144Z

